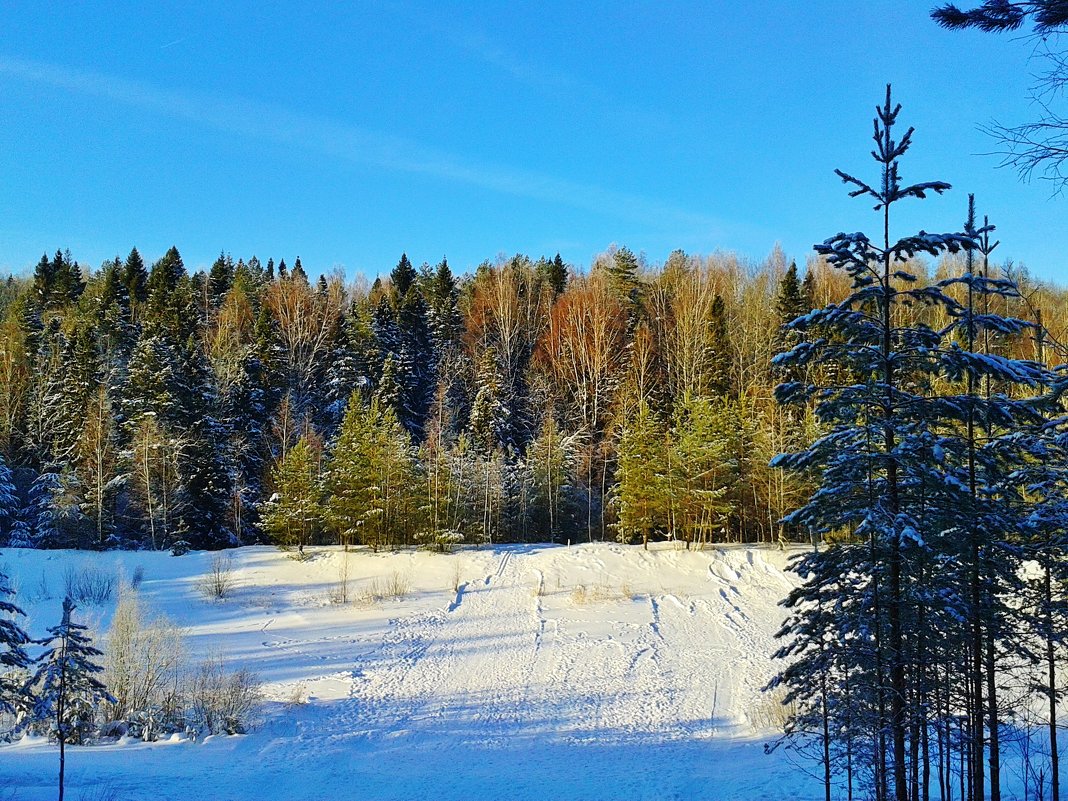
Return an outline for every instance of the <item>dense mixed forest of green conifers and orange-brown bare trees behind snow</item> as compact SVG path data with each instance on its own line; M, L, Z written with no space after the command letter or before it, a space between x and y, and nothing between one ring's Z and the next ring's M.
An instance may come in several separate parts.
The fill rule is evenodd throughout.
M772 358L847 293L778 249L461 277L402 255L370 285L57 251L0 284L0 544L806 537L781 520L810 478L768 462L818 422L774 403Z

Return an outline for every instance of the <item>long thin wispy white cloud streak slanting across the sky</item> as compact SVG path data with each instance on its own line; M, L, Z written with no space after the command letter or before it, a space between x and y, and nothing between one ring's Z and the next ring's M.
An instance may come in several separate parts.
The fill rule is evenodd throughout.
M0 76L99 97L231 135L286 144L342 162L428 175L653 226L696 229L709 237L723 233L717 219L656 199L523 168L474 161L400 137L248 98L178 92L103 73L4 57L0 57Z

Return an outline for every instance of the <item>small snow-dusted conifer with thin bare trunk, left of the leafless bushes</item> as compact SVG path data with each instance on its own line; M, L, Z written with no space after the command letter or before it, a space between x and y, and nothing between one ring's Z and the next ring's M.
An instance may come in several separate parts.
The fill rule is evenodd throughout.
M34 717L47 722L49 733L60 744L59 799L63 801L63 780L67 743L80 742L93 725L96 706L114 703L96 674L104 669L94 660L103 654L94 648L87 627L73 619L75 603L63 600L63 619L48 629L37 669L25 691L36 702Z

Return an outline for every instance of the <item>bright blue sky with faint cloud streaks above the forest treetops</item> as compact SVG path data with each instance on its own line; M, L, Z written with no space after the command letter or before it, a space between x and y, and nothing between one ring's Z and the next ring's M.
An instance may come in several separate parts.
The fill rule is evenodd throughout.
M1068 200L979 155L977 124L1034 114L1030 45L931 3L5 3L0 269L172 244L372 276L613 242L803 262L877 225L833 170L873 174L891 81L905 177L954 185L899 233L974 191L999 255L1068 283Z

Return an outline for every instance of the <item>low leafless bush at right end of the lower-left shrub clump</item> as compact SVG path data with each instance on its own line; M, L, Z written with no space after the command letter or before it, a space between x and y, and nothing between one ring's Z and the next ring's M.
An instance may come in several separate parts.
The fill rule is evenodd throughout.
M203 662L189 680L189 725L199 736L245 734L261 698L258 677L244 668L227 672L215 659Z

